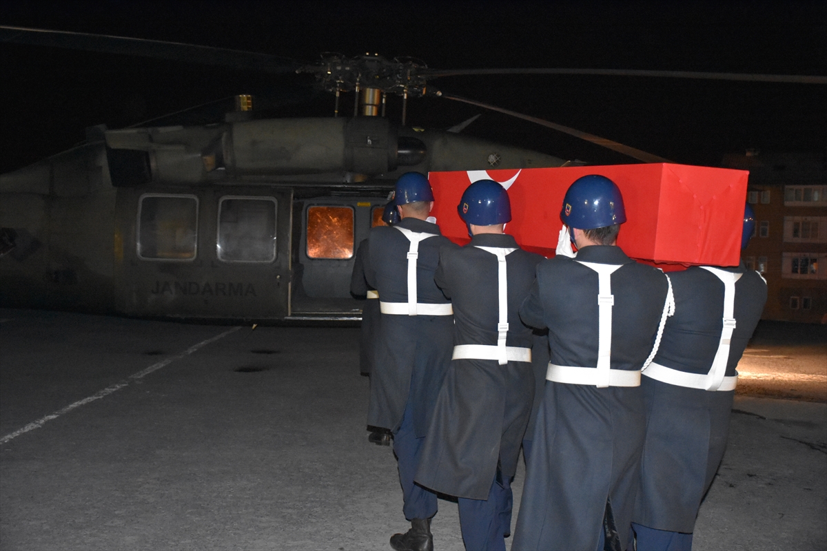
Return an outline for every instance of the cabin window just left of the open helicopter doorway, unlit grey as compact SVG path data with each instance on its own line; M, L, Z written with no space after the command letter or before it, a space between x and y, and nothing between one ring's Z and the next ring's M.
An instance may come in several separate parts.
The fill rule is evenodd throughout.
M218 259L275 260L275 210L275 199L270 197L222 197L218 202Z

